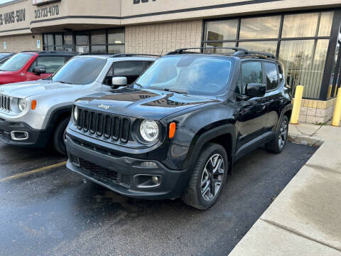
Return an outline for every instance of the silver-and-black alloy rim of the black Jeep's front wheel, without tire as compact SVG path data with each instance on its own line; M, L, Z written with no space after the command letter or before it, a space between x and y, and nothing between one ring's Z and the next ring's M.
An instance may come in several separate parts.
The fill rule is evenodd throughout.
M224 159L220 154L214 154L205 164L201 177L201 195L205 201L212 201L222 187L224 178Z

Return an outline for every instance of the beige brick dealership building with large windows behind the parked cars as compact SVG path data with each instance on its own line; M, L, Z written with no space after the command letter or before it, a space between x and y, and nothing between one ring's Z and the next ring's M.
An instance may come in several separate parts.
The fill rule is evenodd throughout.
M340 0L13 0L0 5L0 51L266 51L293 92L305 87L301 121L324 123L341 84L340 22Z

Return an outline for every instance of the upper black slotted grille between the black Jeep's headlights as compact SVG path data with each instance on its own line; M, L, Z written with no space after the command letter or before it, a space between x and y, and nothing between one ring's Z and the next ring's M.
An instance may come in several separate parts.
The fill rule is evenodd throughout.
M77 129L90 135L126 143L129 141L130 119L79 108Z

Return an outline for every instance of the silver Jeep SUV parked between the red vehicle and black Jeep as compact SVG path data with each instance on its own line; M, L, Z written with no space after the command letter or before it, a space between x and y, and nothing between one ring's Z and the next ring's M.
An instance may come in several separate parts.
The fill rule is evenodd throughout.
M50 78L0 87L0 139L17 146L52 145L66 154L65 129L79 97L129 85L151 55L79 55Z

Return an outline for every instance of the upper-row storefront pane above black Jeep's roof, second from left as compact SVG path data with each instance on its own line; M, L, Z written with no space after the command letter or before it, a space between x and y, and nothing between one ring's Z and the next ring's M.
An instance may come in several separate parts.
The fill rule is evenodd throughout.
M239 39L278 38L280 23L281 16L242 18Z

